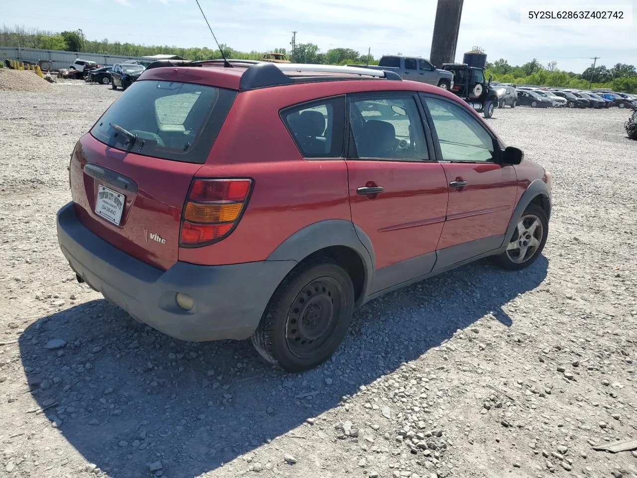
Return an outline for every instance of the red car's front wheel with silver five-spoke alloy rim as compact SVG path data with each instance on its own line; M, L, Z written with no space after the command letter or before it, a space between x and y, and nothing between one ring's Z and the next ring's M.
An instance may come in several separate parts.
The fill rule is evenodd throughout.
M534 227L531 231L531 227ZM520 230L521 228L521 230ZM525 237L525 233L526 234ZM507 244L507 250L494 257L494 261L506 270L522 270L533 264L542 253L548 237L548 217L544 210L536 205L529 204L513 236ZM524 240L524 239L527 240ZM531 238L529 240L529 238ZM533 248L533 249L532 249ZM530 249L530 250L529 250ZM524 256L520 257L520 254Z

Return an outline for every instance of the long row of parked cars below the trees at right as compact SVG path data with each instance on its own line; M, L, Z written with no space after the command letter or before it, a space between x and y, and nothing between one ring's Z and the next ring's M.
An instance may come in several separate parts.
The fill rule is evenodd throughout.
M500 108L637 108L637 96L627 93L516 86L512 83L498 83L493 87L499 97Z

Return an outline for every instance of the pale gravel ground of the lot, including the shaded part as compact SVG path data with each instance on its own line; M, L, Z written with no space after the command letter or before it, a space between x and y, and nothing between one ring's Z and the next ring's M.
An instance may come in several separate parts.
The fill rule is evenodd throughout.
M637 141L617 109L496 110L554 173L544 256L358 310L334 358L278 372L77 284L57 246L73 143L121 94L0 92L0 477L637 476Z

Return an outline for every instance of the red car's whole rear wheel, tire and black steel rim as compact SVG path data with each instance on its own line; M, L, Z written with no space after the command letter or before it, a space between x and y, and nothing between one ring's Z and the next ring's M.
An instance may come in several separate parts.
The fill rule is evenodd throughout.
M278 286L252 344L261 356L287 372L304 372L338 349L354 313L354 286L331 259L292 270Z

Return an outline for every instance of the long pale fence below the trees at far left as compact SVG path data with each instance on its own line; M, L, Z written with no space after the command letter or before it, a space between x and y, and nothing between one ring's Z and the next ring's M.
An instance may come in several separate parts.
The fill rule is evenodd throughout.
M110 66L126 60L148 61L148 58L127 57L122 55L99 55L96 53L64 52L61 50L0 47L0 61L10 59L37 63L39 60L48 60L51 62L51 69L69 68L76 58L94 61L103 66Z

